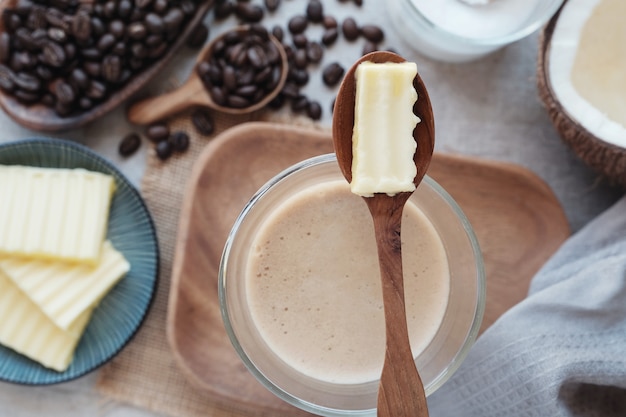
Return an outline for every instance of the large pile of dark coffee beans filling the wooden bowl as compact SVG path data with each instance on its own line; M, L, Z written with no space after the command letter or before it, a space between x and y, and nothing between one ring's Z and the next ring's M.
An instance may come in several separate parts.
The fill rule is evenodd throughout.
M162 57L199 1L17 0L2 11L0 88L62 117L87 111Z

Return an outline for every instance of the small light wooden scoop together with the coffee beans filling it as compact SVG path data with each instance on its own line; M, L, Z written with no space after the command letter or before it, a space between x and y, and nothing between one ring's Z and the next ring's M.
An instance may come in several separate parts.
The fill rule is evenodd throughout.
M128 120L146 125L192 106L230 114L253 112L276 97L288 71L280 41L261 24L242 25L213 39L180 87L134 103Z

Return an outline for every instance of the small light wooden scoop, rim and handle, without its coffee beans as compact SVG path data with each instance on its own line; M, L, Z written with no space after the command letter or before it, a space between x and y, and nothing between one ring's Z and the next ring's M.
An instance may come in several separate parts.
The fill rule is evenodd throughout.
M248 28L246 26L241 26L233 30L246 32L248 31ZM198 55L197 62L201 62L211 56L218 41L220 41L227 34L228 32L224 33L206 45ZM288 74L287 53L285 52L285 48L281 42L278 41L278 39L271 34L269 36L270 40L276 46L280 54L282 61L281 77L276 88L274 88L274 90L266 95L261 101L244 108L221 106L213 100L194 68L187 81L185 81L185 83L177 89L133 104L128 111L128 120L135 124L146 125L162 120L191 106L206 106L230 114L250 113L264 107L274 97L276 97L280 90L282 90Z

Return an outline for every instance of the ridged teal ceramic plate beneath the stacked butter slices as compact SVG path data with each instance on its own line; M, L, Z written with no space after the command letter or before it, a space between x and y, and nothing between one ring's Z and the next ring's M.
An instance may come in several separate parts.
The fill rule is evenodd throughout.
M111 163L88 148L58 139L28 139L0 145L0 164L85 168L112 175L108 238L130 262L130 272L94 311L74 360L62 373L0 346L0 380L28 385L68 381L113 358L141 326L154 297L159 250L150 213L137 190ZM0 317L0 321L2 318Z

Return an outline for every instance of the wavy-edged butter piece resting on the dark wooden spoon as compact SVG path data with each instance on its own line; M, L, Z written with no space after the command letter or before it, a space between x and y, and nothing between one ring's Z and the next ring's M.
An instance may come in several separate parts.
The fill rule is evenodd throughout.
M413 62L363 62L356 69L356 102L352 135L353 193L394 195L415 190L417 144L413 113L417 92Z

